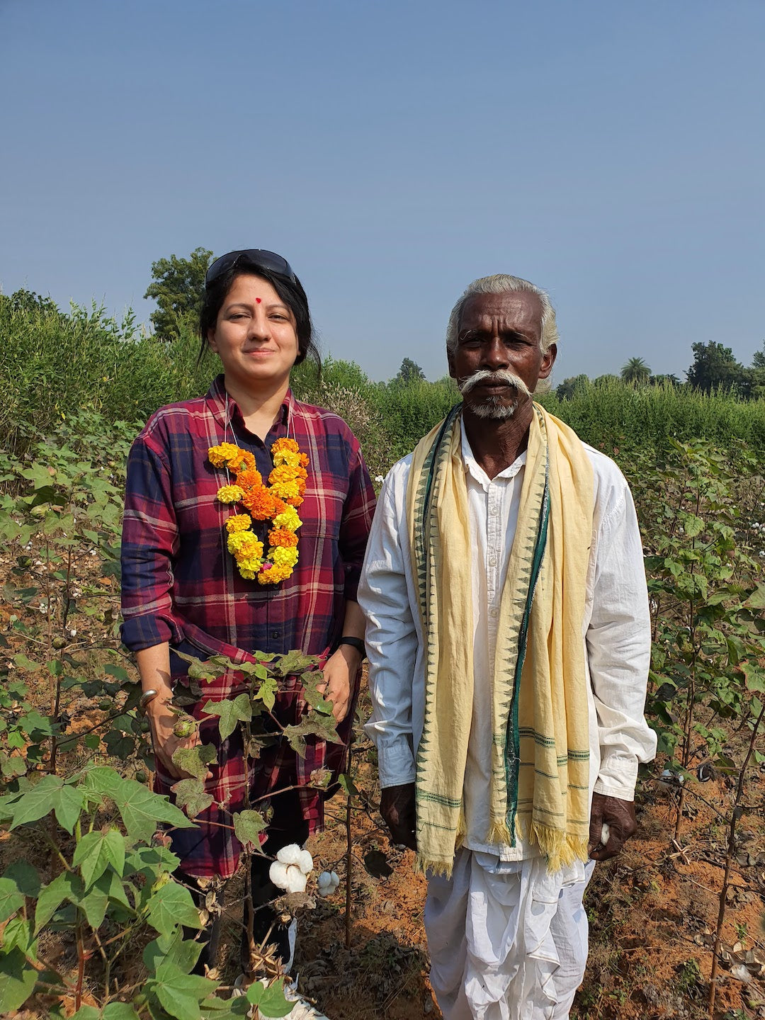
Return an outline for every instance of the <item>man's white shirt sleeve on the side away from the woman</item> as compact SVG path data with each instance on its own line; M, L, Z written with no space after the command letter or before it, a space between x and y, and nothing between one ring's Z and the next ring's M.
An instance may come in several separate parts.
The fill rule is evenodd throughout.
M638 763L656 754L656 734L644 715L651 620L643 546L631 494L619 477L599 529L586 648L601 756L595 790L631 801Z

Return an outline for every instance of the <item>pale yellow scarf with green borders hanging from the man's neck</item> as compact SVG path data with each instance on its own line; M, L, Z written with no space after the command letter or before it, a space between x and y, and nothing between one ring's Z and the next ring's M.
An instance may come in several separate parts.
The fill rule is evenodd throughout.
M588 859L590 737L584 648L593 468L577 436L534 404L518 524L500 602L493 684L490 843L516 832L557 871ZM461 405L418 443L407 487L425 636L417 753L418 866L451 874L465 831L473 614ZM565 597L564 597L565 593Z

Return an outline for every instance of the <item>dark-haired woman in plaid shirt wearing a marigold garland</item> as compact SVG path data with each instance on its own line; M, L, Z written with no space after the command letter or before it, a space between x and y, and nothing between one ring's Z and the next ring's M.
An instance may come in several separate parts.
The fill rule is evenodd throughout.
M320 656L325 697L345 740L363 657L356 586L374 508L359 444L346 423L291 393L293 365L306 357L318 362L318 353L305 292L286 259L255 249L230 252L213 262L205 278L200 334L203 350L209 347L218 355L223 372L205 397L160 408L134 443L122 536L122 640L136 653L141 674L157 788L169 793L184 777L172 762L178 748L199 741L218 748L207 779L213 805L197 817L197 828L172 835L181 877L192 887L209 886L199 879L226 879L236 871L241 847L231 830L231 812L245 806L248 780L253 799L299 787L272 797L264 852L272 857L283 846L304 843L323 821L322 794L307 785L310 773L324 765L337 768L343 749L312 741L300 759L280 742L246 777L241 732L221 742L217 718L201 709L208 698L231 696L236 674L205 686L204 698L190 710L201 720L199 733L180 740L167 706L187 666L174 653L200 659L226 655L235 662L252 661L256 650L300 649ZM258 520L253 511L246 540L253 555L242 553L240 540L232 544L233 532L246 523L247 508L218 498L221 487L234 480L232 463L226 467L214 453L211 461L210 448L225 443L245 451L248 466L266 483L274 466L271 448L280 440L278 451L288 438L297 443L293 460L301 466L307 461L298 472L305 475L304 492L292 501L302 524L297 527L293 516L288 526L297 547L284 551L278 563L282 554L271 556L271 564L273 550L257 556L253 544L255 553L267 548L269 528L280 526L279 521ZM286 504L279 506L284 510ZM226 524L238 514L236 524ZM273 566L278 570L268 576ZM296 721L301 710L296 690L279 694L274 711L283 724ZM225 810L217 807L220 802ZM268 865L267 859L253 858L256 904L277 895ZM272 913L259 909L256 944L272 924ZM216 940L213 931L203 957L210 965ZM268 941L274 940L283 961L290 962L288 933L274 927Z

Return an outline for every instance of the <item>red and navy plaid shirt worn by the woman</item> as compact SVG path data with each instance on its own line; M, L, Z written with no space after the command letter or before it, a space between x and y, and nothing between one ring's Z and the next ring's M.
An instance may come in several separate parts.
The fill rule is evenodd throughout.
M200 659L227 655L252 661L254 651L283 653L301 649L325 657L341 636L346 600L356 599L361 563L374 511L374 493L358 441L336 414L311 407L287 394L282 412L265 442L250 432L238 405L228 398L219 375L208 394L197 400L160 408L133 445L128 460L122 525L122 641L132 651L169 642L170 669L183 681L186 665L173 649ZM227 423L227 427L226 427ZM234 442L255 455L264 478L272 467L270 447L282 437L294 438L308 455L305 500L299 508L300 553L291 577L275 585L243 578L226 549L225 520L232 509L216 500L228 479L224 468L207 459L211 446ZM266 538L268 522L255 522ZM261 533L262 532L262 533ZM267 541L266 541L267 545ZM242 682L230 673L205 687L205 701L231 697ZM244 805L244 755L241 734L223 746L217 719L201 712L203 743L219 747L208 793L227 812ZM295 688L280 692L277 712L283 724L299 718L304 703ZM350 728L352 712L346 717ZM307 783L311 771L339 766L343 748L309 743L304 759L286 742L261 755L251 797L262 797L292 782ZM169 793L174 781L157 770L158 788ZM318 792L301 790L311 830L322 822ZM239 844L227 828L226 812L212 806L200 815L197 829L174 833L173 851L189 874L227 877L237 868Z

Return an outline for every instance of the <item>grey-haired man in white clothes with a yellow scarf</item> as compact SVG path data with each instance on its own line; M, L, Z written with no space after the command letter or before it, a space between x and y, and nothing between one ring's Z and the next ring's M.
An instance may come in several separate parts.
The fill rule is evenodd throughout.
M621 472L532 403L544 291L471 284L447 333L458 405L382 487L359 603L380 811L428 877L445 1020L564 1020L584 886L635 831L650 628Z

